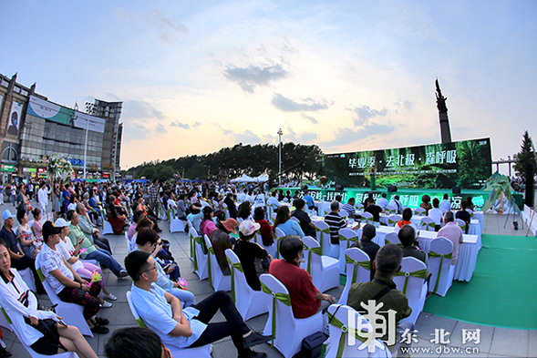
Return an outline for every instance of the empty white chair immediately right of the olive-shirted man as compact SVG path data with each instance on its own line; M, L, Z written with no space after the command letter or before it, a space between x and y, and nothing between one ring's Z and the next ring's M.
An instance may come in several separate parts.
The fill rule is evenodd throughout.
M427 265L423 261L408 256L403 258L402 266L401 271L396 273L394 282L398 290L407 296L412 313L401 322L410 321L416 324L427 297L427 282L425 281Z

